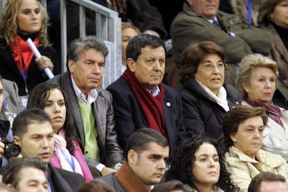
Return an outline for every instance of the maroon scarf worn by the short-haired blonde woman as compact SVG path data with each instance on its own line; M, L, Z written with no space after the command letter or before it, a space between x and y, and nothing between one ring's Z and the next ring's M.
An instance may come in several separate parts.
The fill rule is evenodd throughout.
M273 119L275 122L277 122L281 127L283 127L283 129L285 129L284 124L280 118L281 109L279 108L279 106L274 105L274 104L266 104L264 102L259 102L259 101L252 101L250 99L246 99L246 102L250 104L250 106L254 106L254 107L261 106L264 109L266 109L269 117Z

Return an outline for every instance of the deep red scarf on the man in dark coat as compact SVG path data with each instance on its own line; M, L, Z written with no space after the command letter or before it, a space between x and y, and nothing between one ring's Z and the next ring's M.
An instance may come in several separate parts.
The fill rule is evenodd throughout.
M167 138L163 118L164 88L162 83L159 84L160 93L156 97L153 97L129 69L125 70L123 77L138 100L147 119L148 126Z

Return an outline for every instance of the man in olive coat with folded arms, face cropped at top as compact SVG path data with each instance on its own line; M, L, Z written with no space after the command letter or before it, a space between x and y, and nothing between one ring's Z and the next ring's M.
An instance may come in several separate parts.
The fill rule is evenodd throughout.
M227 60L227 83L235 85L237 63L253 53L269 55L271 35L261 27L248 26L237 15L218 10L219 0L186 0L183 11L171 24L173 57L178 68L181 67L181 54L193 42L210 40L224 48ZM218 25L218 26L217 26Z

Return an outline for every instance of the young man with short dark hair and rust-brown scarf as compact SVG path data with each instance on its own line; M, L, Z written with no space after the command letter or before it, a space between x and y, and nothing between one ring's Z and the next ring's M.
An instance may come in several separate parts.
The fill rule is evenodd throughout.
M159 184L166 170L169 147L167 139L154 129L138 129L129 137L125 161L117 173L98 177L115 191L150 191Z

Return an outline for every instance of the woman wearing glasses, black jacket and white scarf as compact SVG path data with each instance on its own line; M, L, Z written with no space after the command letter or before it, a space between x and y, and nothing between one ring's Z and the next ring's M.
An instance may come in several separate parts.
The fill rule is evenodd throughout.
M190 44L182 53L181 90L187 136L223 140L222 118L241 104L239 92L225 79L225 54L215 42Z

